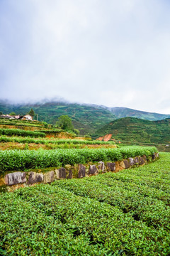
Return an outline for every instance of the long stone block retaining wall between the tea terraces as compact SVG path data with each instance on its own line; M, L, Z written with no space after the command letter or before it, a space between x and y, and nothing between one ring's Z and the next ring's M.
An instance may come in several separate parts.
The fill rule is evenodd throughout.
M135 166L142 166L158 158L159 154L154 153L149 158L147 156L136 156L135 158L130 157L129 159L115 162L104 163L103 161L99 161L98 164L77 164L75 166L67 164L64 168L54 169L45 174L34 171L16 171L0 178L0 191L14 191L16 188L34 186L39 183L51 183L62 178L84 178L108 171L117 172Z

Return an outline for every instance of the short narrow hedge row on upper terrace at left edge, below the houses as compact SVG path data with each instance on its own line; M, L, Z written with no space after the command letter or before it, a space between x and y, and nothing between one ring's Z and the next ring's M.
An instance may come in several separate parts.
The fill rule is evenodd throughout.
M21 136L21 137L45 137L44 132L25 131L22 129L0 129L0 135Z

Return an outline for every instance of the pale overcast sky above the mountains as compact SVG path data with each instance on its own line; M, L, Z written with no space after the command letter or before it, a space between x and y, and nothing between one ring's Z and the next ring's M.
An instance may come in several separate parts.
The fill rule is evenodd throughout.
M0 0L0 99L170 114L169 0Z

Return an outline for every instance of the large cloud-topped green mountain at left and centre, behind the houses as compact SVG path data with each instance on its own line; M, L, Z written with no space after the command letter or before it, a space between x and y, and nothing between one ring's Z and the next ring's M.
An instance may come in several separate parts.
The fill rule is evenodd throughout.
M57 118L67 114L72 118L74 128L79 129L80 134L92 134L99 127L115 119L113 113L103 107L79 104L67 104L62 102L47 102L34 105L10 105L0 102L0 112L8 114L26 114L33 108L38 114L39 121L55 124ZM36 116L35 116L36 117Z

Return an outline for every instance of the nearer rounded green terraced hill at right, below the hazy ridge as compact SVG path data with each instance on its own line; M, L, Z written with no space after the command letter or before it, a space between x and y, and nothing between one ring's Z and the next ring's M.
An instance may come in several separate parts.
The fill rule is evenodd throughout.
M169 144L170 119L149 121L134 117L117 119L98 129L94 137L113 134L113 139L126 142Z

